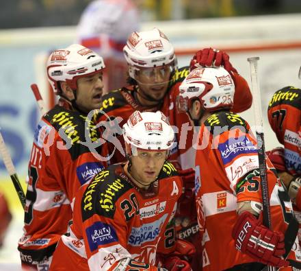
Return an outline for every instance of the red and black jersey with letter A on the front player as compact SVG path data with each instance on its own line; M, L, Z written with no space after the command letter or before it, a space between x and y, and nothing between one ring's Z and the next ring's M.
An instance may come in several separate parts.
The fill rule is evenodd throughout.
M157 270L156 253L174 251L172 217L182 191L176 169L166 162L157 180L143 190L127 177L123 166L109 166L79 191L72 235L62 237L51 270L65 270L61 268L66 266L77 266L77 270L117 270L121 266L122 270ZM68 259L63 260L67 253Z

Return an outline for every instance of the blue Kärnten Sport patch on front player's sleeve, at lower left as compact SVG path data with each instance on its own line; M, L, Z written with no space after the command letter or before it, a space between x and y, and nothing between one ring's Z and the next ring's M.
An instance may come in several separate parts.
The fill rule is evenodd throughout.
M92 226L86 228L86 235L91 251L96 250L98 246L118 241L114 228L102 222L95 222Z

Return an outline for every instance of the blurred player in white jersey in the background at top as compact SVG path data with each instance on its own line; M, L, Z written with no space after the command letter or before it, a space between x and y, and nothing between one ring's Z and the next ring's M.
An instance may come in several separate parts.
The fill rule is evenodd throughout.
M127 82L127 62L122 49L133 31L140 28L135 0L94 0L81 14L77 40L103 56L104 93L118 89Z

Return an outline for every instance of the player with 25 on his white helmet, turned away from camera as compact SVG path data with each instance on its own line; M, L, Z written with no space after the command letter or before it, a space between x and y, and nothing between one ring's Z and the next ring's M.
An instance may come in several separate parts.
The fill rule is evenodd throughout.
M194 69L180 86L179 108L200 126L195 187L202 270L287 268L289 261L300 268L298 224L268 159L272 230L262 224L257 143L248 123L231 112L234 89L222 67Z

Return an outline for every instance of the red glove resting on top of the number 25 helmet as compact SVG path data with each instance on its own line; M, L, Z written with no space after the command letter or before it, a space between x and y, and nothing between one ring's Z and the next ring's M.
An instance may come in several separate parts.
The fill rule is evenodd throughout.
M224 51L218 49L205 48L200 51L197 51L194 54L194 57L190 61L189 69L192 71L197 67L220 67L223 66L226 71L231 73L234 71L237 73L237 70L232 66L229 61L229 56Z

